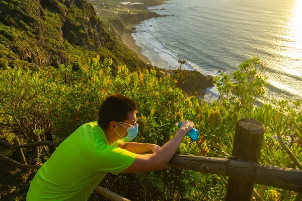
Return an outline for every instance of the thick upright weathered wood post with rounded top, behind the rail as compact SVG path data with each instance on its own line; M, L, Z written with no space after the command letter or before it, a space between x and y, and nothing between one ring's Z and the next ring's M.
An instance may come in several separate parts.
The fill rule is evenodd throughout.
M236 123L233 157L258 163L264 126L254 119L242 119ZM226 201L250 201L254 188L253 182L229 178Z

